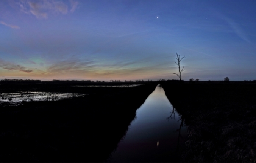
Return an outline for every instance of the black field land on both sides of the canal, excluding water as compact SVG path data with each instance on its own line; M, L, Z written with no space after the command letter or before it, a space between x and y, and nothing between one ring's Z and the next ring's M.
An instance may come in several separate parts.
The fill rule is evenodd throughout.
M180 161L256 162L256 84L160 83L188 129ZM42 91L87 95L0 107L0 160L108 161L136 116L137 108L157 84L137 87L2 84L1 93Z

